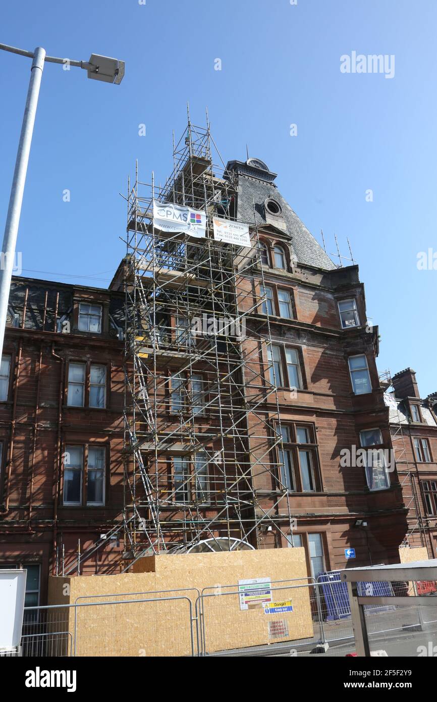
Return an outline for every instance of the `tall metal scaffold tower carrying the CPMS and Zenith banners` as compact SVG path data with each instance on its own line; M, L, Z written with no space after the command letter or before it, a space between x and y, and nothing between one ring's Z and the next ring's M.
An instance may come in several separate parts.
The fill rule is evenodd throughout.
M206 540L217 550L262 548L271 531L293 545L269 316L259 314L254 294L254 277L264 282L255 207L245 223L251 247L213 238L213 218L237 221L235 178L207 114L206 128L188 117L180 141L173 137L173 173L163 187L153 174L141 183L137 171L128 185L128 567L144 553ZM159 229L154 202L206 213L206 237Z

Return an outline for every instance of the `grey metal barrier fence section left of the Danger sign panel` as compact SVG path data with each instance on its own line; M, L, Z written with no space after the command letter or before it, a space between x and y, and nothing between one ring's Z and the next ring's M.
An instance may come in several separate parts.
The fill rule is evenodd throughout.
M193 600L198 592L192 591ZM197 627L190 597L160 594L117 594L100 597L98 602L26 607L18 655L196 655Z

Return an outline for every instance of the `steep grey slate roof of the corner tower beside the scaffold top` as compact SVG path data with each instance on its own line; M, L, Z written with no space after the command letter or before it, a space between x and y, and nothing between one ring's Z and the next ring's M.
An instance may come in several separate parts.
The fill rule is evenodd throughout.
M287 226L287 230L284 233L288 234L291 238L290 243L296 255L297 262L316 268L322 268L323 270L335 270L337 266L332 263L328 254L323 251L321 245L314 239L311 232L307 230L307 227L305 227L304 223L302 223L295 211L293 211L288 202L278 191L276 185L272 182L274 178L272 179L270 176L273 175L276 177L275 174L269 172L270 182L268 182L267 180L262 180L262 171L260 172L261 178L254 178L241 173L242 169L247 170L245 168L246 164L241 164L238 161L231 161L230 164L228 164L228 167L229 166L238 171L236 213L238 220L253 223L253 201L255 201L257 225L266 225L264 201L269 197L275 199L282 207L282 218Z

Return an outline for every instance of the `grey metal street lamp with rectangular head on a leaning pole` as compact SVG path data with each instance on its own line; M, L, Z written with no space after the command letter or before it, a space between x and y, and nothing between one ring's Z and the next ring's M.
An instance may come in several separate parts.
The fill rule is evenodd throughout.
M32 58L32 68L30 72L29 89L25 114L22 120L20 142L18 143L17 159L15 161L15 171L13 174L11 197L9 198L8 215L4 230L3 246L0 252L0 359L3 352L4 333L6 327L6 314L8 312L9 291L11 289L11 278L13 263L15 258L15 244L17 242L18 224L20 223L21 205L29 163L30 145L32 143L32 133L34 131L36 105L38 104L39 87L43 74L44 62L62 63L64 65L83 68L88 74L88 78L105 83L115 83L119 85L124 75L124 61L108 56L91 54L90 60L71 61L66 58L56 58L46 56L45 49L36 47L35 51L25 51L24 49L0 44L0 49L11 51L22 56Z

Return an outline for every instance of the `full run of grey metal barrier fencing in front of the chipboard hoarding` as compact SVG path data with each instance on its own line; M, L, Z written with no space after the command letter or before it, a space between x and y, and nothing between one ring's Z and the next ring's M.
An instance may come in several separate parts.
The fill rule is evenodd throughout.
M436 595L436 583L360 583L365 597ZM264 603L263 603L264 600ZM424 616L429 614L429 616ZM365 606L368 631L384 635L433 628L431 609ZM26 607L22 656L210 656L265 650L344 655L353 646L349 595L338 572L319 578L215 588L121 592L72 604ZM245 650L246 649L246 650ZM8 653L6 655L13 655Z

